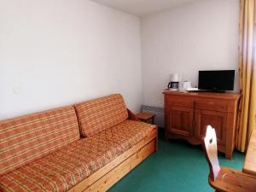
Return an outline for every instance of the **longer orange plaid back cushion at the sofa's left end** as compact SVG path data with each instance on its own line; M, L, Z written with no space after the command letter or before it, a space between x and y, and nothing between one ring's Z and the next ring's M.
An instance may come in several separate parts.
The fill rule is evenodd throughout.
M73 107L0 121L0 175L79 140Z

